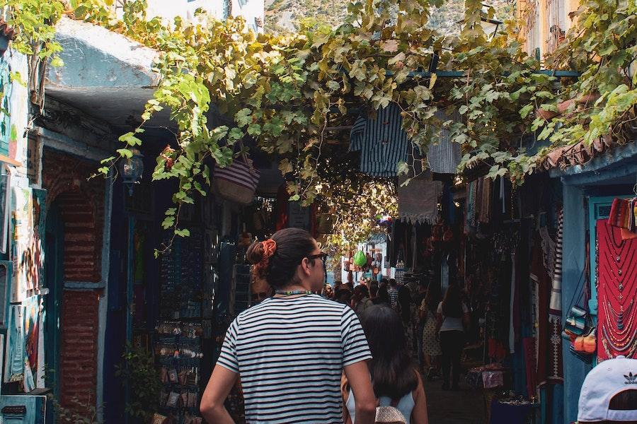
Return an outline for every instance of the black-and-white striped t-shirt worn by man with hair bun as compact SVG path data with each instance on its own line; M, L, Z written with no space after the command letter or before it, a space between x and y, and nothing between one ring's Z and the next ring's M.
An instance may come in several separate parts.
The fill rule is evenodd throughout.
M372 358L350 307L270 298L230 324L217 364L241 375L246 422L343 423L343 367Z

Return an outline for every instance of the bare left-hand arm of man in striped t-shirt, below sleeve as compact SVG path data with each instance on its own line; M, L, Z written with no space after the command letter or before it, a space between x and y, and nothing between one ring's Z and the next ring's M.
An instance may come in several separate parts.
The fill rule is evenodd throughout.
M217 365L212 370L208 385L201 397L200 411L208 423L234 424L224 401L228 397L239 375L236 372Z

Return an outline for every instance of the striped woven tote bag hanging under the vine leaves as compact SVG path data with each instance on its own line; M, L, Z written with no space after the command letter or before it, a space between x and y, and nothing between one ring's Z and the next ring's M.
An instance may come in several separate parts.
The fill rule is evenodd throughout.
M241 155L226 167L214 164L212 186L224 199L241 205L249 205L254 200L260 172L253 167L252 160L243 152L243 143L239 141Z

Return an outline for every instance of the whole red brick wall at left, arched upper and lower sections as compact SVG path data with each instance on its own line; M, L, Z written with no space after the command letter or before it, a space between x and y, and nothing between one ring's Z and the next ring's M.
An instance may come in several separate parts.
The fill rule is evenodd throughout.
M47 207L59 206L64 220L64 281L101 281L104 179L87 180L96 163L45 149L42 187ZM101 290L64 290L60 313L62 405L95 404L98 305Z

